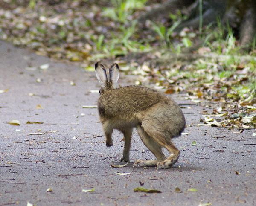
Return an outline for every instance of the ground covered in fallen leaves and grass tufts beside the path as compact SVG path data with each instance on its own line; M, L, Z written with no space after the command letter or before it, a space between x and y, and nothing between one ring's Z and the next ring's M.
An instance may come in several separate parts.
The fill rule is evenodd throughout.
M186 93L192 102L208 106L208 115L213 115L214 120L200 125L256 128L254 51L250 56L227 52L230 45L223 39L203 45L194 53L183 53L181 49L198 38L196 31L186 29L164 40L174 48L170 53L170 48L164 48L161 33L152 32L157 25L148 23L144 25L147 29L140 29L136 22L136 17L143 12L143 3L125 11L123 5L115 7L108 1L67 0L49 4L39 0L30 1L29 6L6 3L9 6L0 9L0 39L28 46L38 55L79 63L90 71L94 70L92 64L96 59L115 59L122 63L121 70L140 78L137 84L147 82L153 87L165 88L168 94ZM159 28L166 30L167 23ZM127 54L136 52L136 58L128 58ZM140 52L144 52L143 55ZM190 57L190 61L183 61ZM126 61L131 64L128 66ZM49 64L39 69L47 70ZM38 83L41 81L37 79ZM74 82L70 83L75 86ZM0 93L6 91L0 90ZM216 113L216 107L220 106L223 113Z

